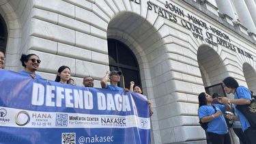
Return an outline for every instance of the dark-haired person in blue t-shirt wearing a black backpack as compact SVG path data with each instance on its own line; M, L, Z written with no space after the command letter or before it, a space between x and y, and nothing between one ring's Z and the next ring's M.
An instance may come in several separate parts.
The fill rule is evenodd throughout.
M226 93L233 93L234 99L228 99L228 98L221 98L221 102L223 103L232 103L235 106L236 105L246 105L251 104L251 91L247 89L246 87L239 86L238 81L235 80L235 78L227 77L223 80L223 87ZM246 119L246 117L238 111L238 109L235 109L235 112L238 114L238 117L236 115L227 115L229 119L240 119L243 136L246 141L246 144L253 144L256 142L256 128L251 128L251 125Z

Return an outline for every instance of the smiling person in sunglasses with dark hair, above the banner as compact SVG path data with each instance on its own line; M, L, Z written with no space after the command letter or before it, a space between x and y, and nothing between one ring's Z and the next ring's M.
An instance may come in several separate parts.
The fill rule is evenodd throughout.
M38 55L29 54L21 55L20 61L25 68L23 71L20 71L20 74L25 74L31 76L32 78L42 78L39 74L35 74L35 71L38 70L41 60Z

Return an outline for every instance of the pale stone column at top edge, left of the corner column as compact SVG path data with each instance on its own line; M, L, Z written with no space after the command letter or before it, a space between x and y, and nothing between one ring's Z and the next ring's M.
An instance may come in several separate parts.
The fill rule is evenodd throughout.
M237 22L235 12L232 8L231 2L229 0L216 0L218 11L221 14L227 14L231 18L233 18L233 22Z

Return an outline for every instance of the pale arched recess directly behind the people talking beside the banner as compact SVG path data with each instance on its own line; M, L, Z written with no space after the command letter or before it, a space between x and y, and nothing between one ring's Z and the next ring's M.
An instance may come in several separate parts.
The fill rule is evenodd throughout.
M210 46L202 45L197 51L197 60L205 91L210 95L220 93L221 96L226 96L221 82L228 75L218 53Z

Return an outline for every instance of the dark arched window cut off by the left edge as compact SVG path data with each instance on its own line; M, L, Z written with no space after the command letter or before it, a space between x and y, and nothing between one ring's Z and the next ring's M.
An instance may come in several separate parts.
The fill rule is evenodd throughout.
M0 51L3 51L3 53L5 53L6 49L7 35L8 33L5 21L3 20L3 17L0 15Z

